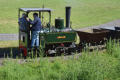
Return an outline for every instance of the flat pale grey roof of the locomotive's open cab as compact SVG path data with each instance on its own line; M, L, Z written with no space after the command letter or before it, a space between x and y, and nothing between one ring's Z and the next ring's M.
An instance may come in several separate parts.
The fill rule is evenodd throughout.
M50 8L19 8L20 11L24 11L24 12L51 12L52 9Z

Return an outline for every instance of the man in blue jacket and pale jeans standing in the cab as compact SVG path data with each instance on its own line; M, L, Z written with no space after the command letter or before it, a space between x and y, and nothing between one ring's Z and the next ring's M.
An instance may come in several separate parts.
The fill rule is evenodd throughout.
M34 18L33 21L29 20L30 24L32 24L32 28L31 28L31 31L32 31L31 48L33 48L35 46L38 48L39 47L39 32L42 28L41 27L41 20L38 17L37 13L33 14L33 18Z

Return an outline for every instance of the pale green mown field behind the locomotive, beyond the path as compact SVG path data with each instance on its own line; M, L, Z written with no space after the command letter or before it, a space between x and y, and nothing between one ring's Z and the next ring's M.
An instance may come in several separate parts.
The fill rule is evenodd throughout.
M65 6L72 6L72 27L82 28L120 19L119 0L0 0L0 33L18 32L18 8L45 7L54 9L56 17L65 18Z

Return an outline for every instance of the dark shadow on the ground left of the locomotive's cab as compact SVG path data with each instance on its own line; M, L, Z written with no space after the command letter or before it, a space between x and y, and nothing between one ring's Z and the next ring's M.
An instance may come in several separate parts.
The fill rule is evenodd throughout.
M18 47L0 48L0 58L16 58L19 54Z

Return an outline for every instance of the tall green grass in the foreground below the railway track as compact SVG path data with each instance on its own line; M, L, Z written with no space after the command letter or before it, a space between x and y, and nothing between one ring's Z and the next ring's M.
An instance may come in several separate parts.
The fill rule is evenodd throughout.
M0 80L120 80L120 47L115 45L107 44L102 53L85 51L69 58L40 57L22 64L8 59L0 67Z

